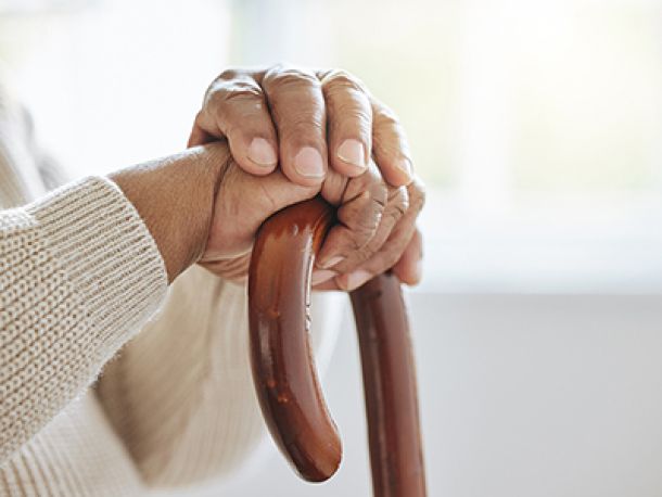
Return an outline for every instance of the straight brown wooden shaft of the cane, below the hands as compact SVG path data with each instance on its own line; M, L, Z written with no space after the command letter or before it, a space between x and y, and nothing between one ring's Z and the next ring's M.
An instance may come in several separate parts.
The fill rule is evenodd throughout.
M423 497L416 368L399 280L380 275L352 292L377 497Z

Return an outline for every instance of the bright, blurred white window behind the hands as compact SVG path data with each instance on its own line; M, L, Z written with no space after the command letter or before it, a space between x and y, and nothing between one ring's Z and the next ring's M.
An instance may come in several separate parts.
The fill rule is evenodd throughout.
M76 175L179 150L228 64L341 66L429 186L423 289L662 290L660 0L28 3L0 58Z

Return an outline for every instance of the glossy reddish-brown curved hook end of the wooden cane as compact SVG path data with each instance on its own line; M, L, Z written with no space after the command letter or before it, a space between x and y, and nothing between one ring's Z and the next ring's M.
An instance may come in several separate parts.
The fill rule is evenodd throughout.
M342 457L308 342L310 271L333 217L320 199L271 216L257 233L249 270L257 397L279 448L310 482L333 475Z

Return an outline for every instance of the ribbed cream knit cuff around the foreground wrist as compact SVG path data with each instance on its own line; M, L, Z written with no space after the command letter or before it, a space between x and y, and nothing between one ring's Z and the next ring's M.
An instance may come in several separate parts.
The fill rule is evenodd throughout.
M167 272L133 205L109 179L86 178L26 207L49 253L84 298L109 359L154 314Z

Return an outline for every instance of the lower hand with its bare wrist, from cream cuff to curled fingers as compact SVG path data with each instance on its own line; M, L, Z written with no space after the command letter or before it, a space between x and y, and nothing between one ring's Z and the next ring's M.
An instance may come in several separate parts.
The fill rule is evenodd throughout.
M314 272L316 288L353 290L398 258L394 271L405 281L400 266L418 260L404 247L422 206L422 190L417 181L407 189L387 186L374 164L356 178L332 173L321 186L302 187L280 170L266 177L243 171L220 141L123 169L111 179L148 226L170 282L196 262L219 276L243 279L259 226L318 193L339 206L340 224L318 257L318 266L331 269ZM346 255L334 260L338 254Z

